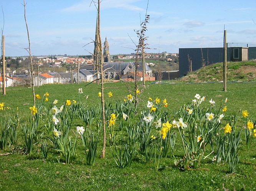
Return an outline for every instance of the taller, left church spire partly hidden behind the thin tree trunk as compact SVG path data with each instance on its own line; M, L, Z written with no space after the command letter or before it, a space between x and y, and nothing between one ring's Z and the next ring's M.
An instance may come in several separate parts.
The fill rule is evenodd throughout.
M95 32L95 40L94 40L94 51L93 51L93 70L99 68L101 64L101 44L99 44L99 32L98 32L98 18L96 21L96 32Z

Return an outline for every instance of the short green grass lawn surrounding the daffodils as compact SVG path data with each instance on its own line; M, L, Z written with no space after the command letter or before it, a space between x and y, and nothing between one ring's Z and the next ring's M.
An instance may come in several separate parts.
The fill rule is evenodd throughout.
M128 94L132 94L124 83L106 83L105 85L107 87L105 99L107 103L112 104L113 111L115 111L116 100L122 101L127 98ZM133 84L130 85L133 86ZM78 94L79 88L83 88L83 94ZM175 112L184 104L190 104L192 99L195 99L195 94L205 96L205 102L202 103L203 110L210 106L209 100L211 99L215 101L216 108L227 106L225 117L221 121L222 127L225 127L228 122L228 116L238 115L240 110L247 110L249 117L252 120L256 119L255 83L228 83L227 92L223 92L222 89L222 83L147 83L146 88L141 89L142 91L138 95L137 115L129 119L129 122L125 121L124 126L139 122L140 111L147 105L149 97L152 97L153 100L159 97L161 102L166 98L168 107L162 108L161 112L168 113L167 118L170 123L174 119L178 120L175 118ZM64 105L67 99L76 100L77 103L80 99L81 103L88 105L88 108L98 107L99 91L99 86L96 84L51 84L35 89L36 94L40 94L41 97L45 92L50 94L49 101L44 102L46 108L51 107L51 102L55 99L58 100L58 104L56 104L58 107ZM112 97L107 97L109 91L113 93ZM10 87L6 93L5 96L0 97L0 102L5 103L5 110L0 111L1 115L15 111L18 113L20 121L27 121L31 115L29 107L33 105L31 88ZM88 99L86 99L87 96ZM228 98L227 103L225 103L226 97ZM10 107L11 110L6 107ZM3 114L4 112L6 114ZM88 128L95 129L96 121L97 119ZM43 125L43 121L41 122L40 124ZM240 112L237 128L243 128L245 125L246 118ZM78 116L72 125L74 131L76 126L85 126ZM115 126L116 144L127 140L125 129L124 127L121 130L118 125ZM158 130L153 129L152 133L157 134ZM182 170L180 166L176 166L175 162L184 157L178 133L172 155L169 153L166 158L160 158L160 168L155 170L154 162L147 162L139 148L137 148L137 153L130 166L117 167L113 157L115 155L114 145L109 143L109 136L107 136L106 158L100 159L102 133L99 135L95 164L88 165L81 139L77 141L73 161L67 164L63 159L58 160L59 153L53 149L53 146L50 147L48 157L44 160L40 147L41 142L35 144L31 156L26 155L21 132L19 126L17 141L19 149L14 152L9 147L0 150L1 190L223 190L223 185L230 190L252 190L255 188L256 154L254 148L256 141L252 137L251 148L248 151L244 140L244 130L241 133L241 144L238 151L239 162L232 173L229 172L227 163L216 164L211 159L202 160L199 169ZM107 134L109 133L111 133L110 128L107 128ZM70 134L74 140L75 133ZM209 147L206 148L206 152L210 153Z

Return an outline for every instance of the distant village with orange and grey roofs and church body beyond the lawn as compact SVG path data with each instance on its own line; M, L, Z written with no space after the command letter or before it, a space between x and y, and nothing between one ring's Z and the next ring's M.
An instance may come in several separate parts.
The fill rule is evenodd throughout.
M157 60L164 58L166 62L171 62L172 58L178 57L178 53L147 53L145 59ZM142 81L142 63L139 63L137 73L135 73L135 55L114 55L113 62L104 62L105 79L109 81L124 80L134 81L135 76L138 81ZM141 60L141 56L138 58ZM34 84L41 86L44 84L72 84L72 83L87 83L97 78L97 71L94 67L94 58L92 56L83 57L68 57L64 56L37 56L34 60ZM130 60L130 62L124 62ZM29 85L31 83L29 57L7 57L6 58L6 86ZM19 66L19 67L17 67ZM145 62L144 78L148 81L154 81L155 75L150 69L155 66L155 63ZM40 69L40 70L37 70ZM49 68L48 71L41 68ZM52 68L52 69L51 69ZM59 68L59 69L58 69ZM61 70L60 70L61 69ZM1 73L2 74L2 73ZM0 85L2 87L2 75L0 77Z

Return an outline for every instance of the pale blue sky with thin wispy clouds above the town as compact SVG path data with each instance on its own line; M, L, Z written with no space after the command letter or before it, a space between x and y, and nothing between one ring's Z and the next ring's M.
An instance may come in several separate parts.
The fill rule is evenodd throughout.
M109 52L134 53L137 30L150 15L147 53L178 53L179 48L223 47L227 42L256 42L255 0L101 0L101 38ZM5 56L27 56L23 0L0 0ZM97 9L92 0L26 0L31 54L90 55Z

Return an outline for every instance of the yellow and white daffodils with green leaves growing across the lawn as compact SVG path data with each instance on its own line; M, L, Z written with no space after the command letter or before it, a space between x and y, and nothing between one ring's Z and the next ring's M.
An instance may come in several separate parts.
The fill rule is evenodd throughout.
M28 154L33 153L35 143L44 139L50 142L44 143L42 147L45 159L45 147L51 147L58 151L54 153L59 155L58 159L61 157L66 163L70 163L75 159L76 143L82 141L87 163L94 163L99 129L102 128L102 112L95 106L85 104L89 95L84 95L82 88L76 93L79 101L76 101L76 97L65 99L63 103L51 99L48 92L43 96L35 95L36 104L28 107L31 112L28 124L21 126ZM212 159L215 163L227 163L232 172L238 164L241 129L244 129L248 149L252 139L256 137L255 120L247 110L242 110L239 115L228 116L228 98L218 103L212 98L196 94L190 103L168 114L172 107L170 98L150 96L145 101L137 102L137 96L142 93L143 90L137 88L122 100L116 100L115 105L106 104L106 131L109 135L106 139L115 147L116 156L112 154L120 167L124 167L121 164L123 159L118 158L120 155L124 156L126 165L129 165L137 152L143 155L146 162L157 162L159 167L162 157L173 156L176 140L179 139L178 143L182 144L183 150L183 157L177 161L180 168L200 168L202 160ZM115 96L109 91L106 96L98 92L94 97L107 97L107 100L111 100ZM50 107L47 108L46 105ZM0 102L0 111L5 112L5 108L5 103ZM244 128L238 126L238 119L243 121ZM127 137L122 136L123 134ZM126 141L124 146L115 141L120 137Z

